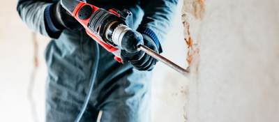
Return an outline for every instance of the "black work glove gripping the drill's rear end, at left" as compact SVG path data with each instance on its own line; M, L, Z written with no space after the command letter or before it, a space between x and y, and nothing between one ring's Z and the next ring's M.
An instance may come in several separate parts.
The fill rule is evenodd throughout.
M82 25L58 1L50 6L50 17L57 29L80 29Z

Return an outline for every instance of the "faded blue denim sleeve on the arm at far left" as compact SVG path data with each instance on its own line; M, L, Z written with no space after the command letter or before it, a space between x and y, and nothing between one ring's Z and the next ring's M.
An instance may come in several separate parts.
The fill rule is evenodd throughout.
M51 1L47 0L19 0L17 2L17 12L22 21L33 31L39 32L44 36L54 38L50 25L47 24L45 11L50 6Z

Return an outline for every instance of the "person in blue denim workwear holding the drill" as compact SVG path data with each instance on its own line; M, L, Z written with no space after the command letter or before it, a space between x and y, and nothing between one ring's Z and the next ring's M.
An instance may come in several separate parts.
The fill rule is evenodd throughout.
M144 45L162 52L177 0L87 0L99 8L125 8L133 13L134 29ZM81 121L150 121L151 70L156 60L137 52L129 63L114 61L113 54L100 47L96 59L94 40L59 1L19 0L17 11L29 28L52 38L45 50L48 68L46 121L75 121L89 89L94 61L99 61L89 105ZM121 52L122 53L122 52Z

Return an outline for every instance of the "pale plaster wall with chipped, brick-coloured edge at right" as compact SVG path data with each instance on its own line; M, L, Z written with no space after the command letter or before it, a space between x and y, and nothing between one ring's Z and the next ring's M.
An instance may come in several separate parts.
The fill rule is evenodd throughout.
M278 6L276 0L183 1L192 69L185 121L279 120Z

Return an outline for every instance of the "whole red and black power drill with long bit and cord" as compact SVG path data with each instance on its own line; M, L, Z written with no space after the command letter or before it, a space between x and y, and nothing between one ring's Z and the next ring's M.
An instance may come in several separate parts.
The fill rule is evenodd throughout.
M125 15L129 15L127 11L124 11L124 13L127 12L126 14L121 15L121 13L118 13L115 10L107 11L89 3L76 0L61 0L61 6L63 6L68 13L82 24L86 33L93 38L93 40L96 40L96 42L107 49L108 52L112 52L115 55L114 59L116 59L116 61L121 61L120 49L125 49L127 52L132 53L137 50L142 50L158 61L162 61L167 64L167 66L179 71L179 73L182 73L183 75L188 74L187 70L177 66L175 63L172 63L172 61L169 61L165 57L153 52L152 49L143 45L142 35L126 26L127 23L123 20L123 18L127 17ZM131 41L129 40L133 40L133 44L131 44ZM98 50L97 44L96 49ZM98 53L99 52L97 51L96 58L98 58ZM92 79L89 94L86 96L84 105L82 105L82 110L78 114L75 122L79 122L82 119L82 115L88 105L93 89L93 83L96 78L98 61L96 61L94 67L91 76Z

